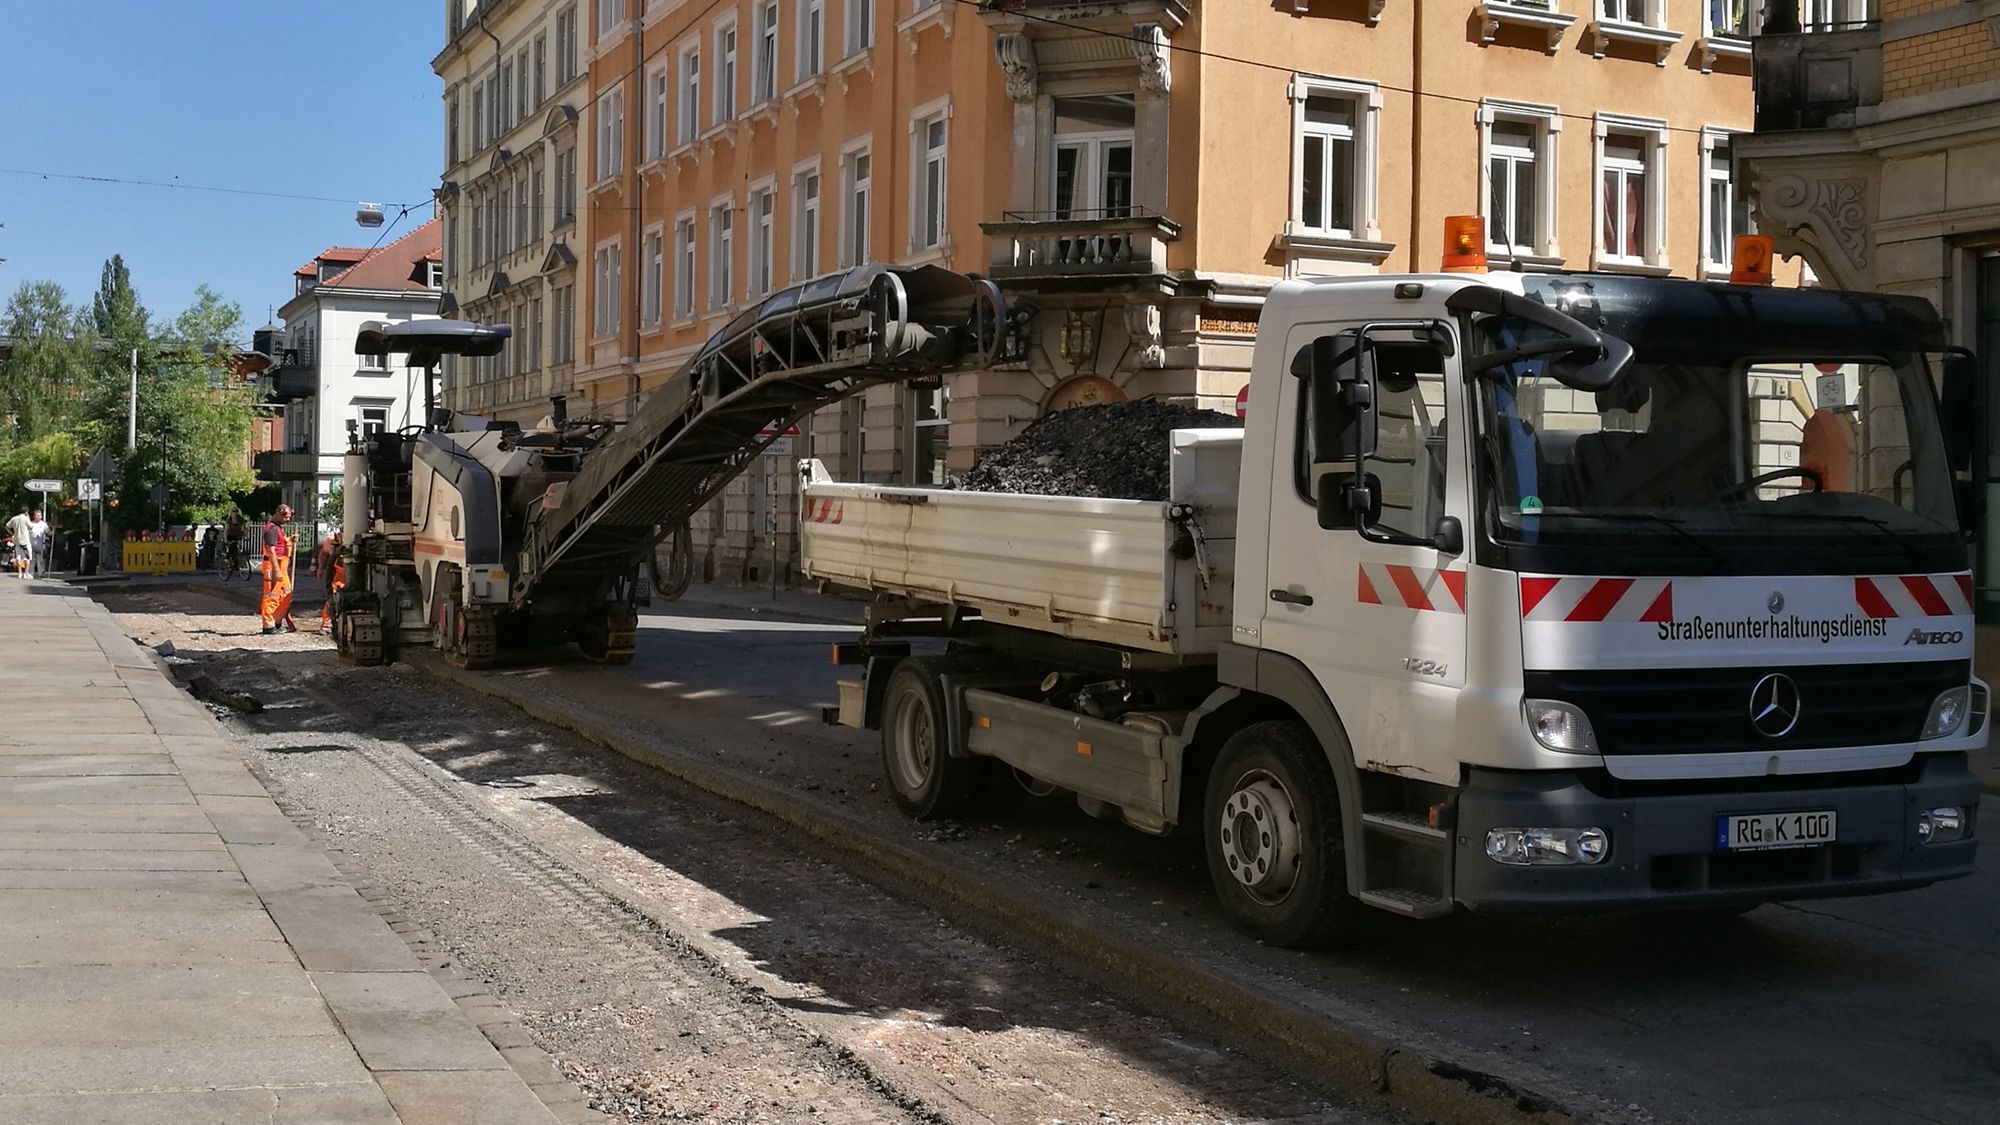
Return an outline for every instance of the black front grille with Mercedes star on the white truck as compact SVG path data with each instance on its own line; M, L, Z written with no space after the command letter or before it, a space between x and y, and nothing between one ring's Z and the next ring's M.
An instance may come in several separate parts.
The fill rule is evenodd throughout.
M1782 739L1750 725L1750 689L1770 673L1798 685L1798 727ZM1528 673L1524 687L1582 707L1606 755L1686 755L1914 743L1938 693L1970 675L1966 661L1920 661Z

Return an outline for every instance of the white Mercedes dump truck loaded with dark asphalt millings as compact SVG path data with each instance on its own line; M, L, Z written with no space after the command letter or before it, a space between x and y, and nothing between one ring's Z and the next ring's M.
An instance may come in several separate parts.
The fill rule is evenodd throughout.
M1272 943L1968 875L1972 372L1898 296L1288 280L1162 500L806 462L804 573L874 595L828 719L916 817L1198 831Z

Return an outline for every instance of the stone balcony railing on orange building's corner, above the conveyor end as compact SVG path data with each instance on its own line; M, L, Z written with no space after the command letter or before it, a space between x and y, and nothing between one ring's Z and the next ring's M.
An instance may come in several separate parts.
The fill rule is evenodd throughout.
M1056 218L1010 210L980 230L992 238L992 278L1000 282L1162 274L1166 244L1180 238L1176 222L1130 212Z

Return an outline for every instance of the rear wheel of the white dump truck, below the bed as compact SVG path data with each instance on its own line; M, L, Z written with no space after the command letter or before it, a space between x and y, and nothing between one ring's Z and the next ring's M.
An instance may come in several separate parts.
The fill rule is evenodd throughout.
M882 695L882 773L896 807L918 821L958 817L990 777L986 759L954 759L946 749L944 685L950 661L910 657Z

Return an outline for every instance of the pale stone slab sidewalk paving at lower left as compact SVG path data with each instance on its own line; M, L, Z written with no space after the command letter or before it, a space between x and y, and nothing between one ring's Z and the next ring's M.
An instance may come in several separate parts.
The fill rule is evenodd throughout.
M556 1121L102 607L0 639L0 1125Z

